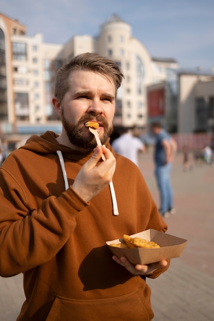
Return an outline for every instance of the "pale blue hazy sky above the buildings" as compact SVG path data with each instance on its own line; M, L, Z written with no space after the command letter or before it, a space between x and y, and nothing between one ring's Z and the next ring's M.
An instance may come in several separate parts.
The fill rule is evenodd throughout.
M56 44L98 35L115 13L151 56L174 58L181 68L214 67L213 0L1 0L0 12Z

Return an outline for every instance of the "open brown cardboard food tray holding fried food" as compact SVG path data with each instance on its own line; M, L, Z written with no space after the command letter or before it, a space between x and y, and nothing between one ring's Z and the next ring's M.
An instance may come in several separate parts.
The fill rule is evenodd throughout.
M123 238L114 239L106 242L107 246L114 255L118 257L126 256L128 260L133 264L150 264L154 262L159 262L162 259L180 257L187 243L186 239L153 229L149 229L137 234L132 234L130 236L144 238L146 240L153 241L160 245L160 248L157 249L123 249L110 246L110 244L112 243L125 243Z

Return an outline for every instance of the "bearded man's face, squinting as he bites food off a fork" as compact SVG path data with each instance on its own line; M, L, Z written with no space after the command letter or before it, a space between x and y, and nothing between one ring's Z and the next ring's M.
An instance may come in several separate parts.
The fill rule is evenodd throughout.
M84 124L97 122L99 137L104 144L113 131L113 81L92 71L75 71L70 75L69 87L61 104L64 134L66 132L72 145L91 150L96 147L96 141Z

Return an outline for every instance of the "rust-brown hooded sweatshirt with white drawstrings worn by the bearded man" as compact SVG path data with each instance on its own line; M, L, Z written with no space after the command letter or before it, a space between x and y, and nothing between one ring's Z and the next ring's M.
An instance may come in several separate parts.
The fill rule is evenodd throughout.
M26 301L17 320L151 320L145 277L115 263L105 244L150 228L166 231L141 172L115 155L120 214L114 216L109 187L90 203L72 189L92 152L83 155L56 137L33 135L0 169L0 275L24 272ZM63 154L67 190L57 150Z

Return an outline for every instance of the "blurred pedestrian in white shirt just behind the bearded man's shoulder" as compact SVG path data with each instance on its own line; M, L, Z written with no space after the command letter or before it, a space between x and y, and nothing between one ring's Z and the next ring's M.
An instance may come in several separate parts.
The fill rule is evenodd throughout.
M111 146L116 153L129 158L135 165L139 166L138 153L145 152L145 145L140 138L134 137L128 128L123 128L120 134L120 137L114 139Z

